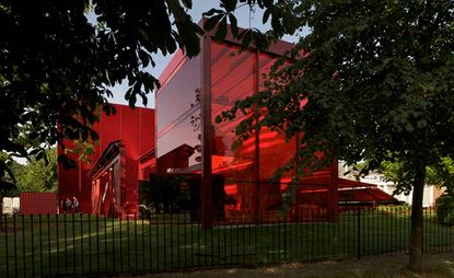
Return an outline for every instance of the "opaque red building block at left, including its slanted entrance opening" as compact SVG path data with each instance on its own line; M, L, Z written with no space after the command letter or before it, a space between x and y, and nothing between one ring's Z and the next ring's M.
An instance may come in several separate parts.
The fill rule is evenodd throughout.
M78 161L77 170L65 170L58 165L58 198L61 211L61 201L75 196L80 202L82 212L108 213L112 212L112 193L118 196L116 212L125 213L137 208L137 186L139 178L147 176L150 171L145 163L149 160L140 159L154 150L154 109L130 108L126 105L114 104L116 114L101 115L101 119L94 125L100 139L93 142L94 152L89 154L90 161L78 161L79 154L70 153L69 157ZM72 148L73 142L65 142L67 148ZM118 157L118 165L108 165L113 159L113 150L121 152ZM58 148L59 154L61 150ZM143 159L143 158L142 158ZM116 190L113 190L113 183L105 183L106 174L101 173L104 183L96 182L100 171L116 169L119 174ZM96 169L93 169L96 167ZM91 174L91 175L90 175ZM95 186L92 186L94 184ZM114 188L115 189L115 188Z

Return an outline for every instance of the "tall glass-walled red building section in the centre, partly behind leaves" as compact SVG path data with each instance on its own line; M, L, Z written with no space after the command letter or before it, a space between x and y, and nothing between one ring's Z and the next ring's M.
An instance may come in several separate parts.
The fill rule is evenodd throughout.
M234 199L226 216L242 211L249 221L257 221L282 204L281 193L291 173L280 181L275 181L275 173L300 148L299 140L286 142L282 135L263 128L232 150L234 130L244 117L221 124L214 123L214 118L236 101L263 90L263 74L293 45L277 42L266 53L254 49L240 53L238 44L230 35L224 43L205 36L201 45L196 58L177 54L160 79L162 86L155 102L158 172L201 174L200 211L205 227L212 223L213 175L223 176L224 190ZM339 196L346 196L339 189L374 190L373 185L353 186L339 178L337 167L334 162L330 169L301 181L296 211L299 206L312 206L336 215Z

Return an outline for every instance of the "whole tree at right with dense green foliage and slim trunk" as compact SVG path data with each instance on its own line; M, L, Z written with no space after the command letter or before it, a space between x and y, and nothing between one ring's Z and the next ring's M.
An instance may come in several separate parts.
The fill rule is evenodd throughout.
M454 2L289 4L310 34L275 65L267 90L218 120L251 115L236 130L238 141L263 126L287 138L303 135L293 160L299 173L334 158L369 161L363 173L400 161L414 189L409 267L419 270L427 166L454 157ZM260 117L248 114L254 109Z

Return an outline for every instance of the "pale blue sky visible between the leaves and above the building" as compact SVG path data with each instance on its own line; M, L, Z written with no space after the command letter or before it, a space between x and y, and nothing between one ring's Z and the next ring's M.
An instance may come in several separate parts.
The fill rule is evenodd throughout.
M193 9L189 10L189 15L193 18L194 22L199 22L201 19L201 14L203 12L209 11L211 8L218 8L218 7L213 7L212 4L218 4L218 1L212 1L212 0L193 0ZM270 28L269 24L263 24L261 23L261 15L263 15L263 11L260 9L257 9L254 13L249 12L249 8L248 5L244 5L237 9L237 11L235 12L236 14L236 19L238 22L238 26L240 27L256 27L263 32L267 31ZM249 14L251 16L251 21L249 21ZM283 40L287 42L295 42L296 37L295 36L284 36ZM153 77L159 78L162 73L162 71L165 69L165 67L167 66L167 63L171 61L173 55L167 55L167 56L163 56L162 54L155 54L153 55L153 59L155 61L155 67L151 68L148 70ZM109 99L110 103L115 103L115 104L128 104L128 102L125 100L125 93L128 90L127 86L128 82L123 82L120 85L116 85L113 88L113 92L114 92L114 97ZM148 100L149 104L147 105L147 107L149 108L154 108L154 93L149 94L149 100ZM136 106L138 107L143 107L142 105L142 100L139 97Z

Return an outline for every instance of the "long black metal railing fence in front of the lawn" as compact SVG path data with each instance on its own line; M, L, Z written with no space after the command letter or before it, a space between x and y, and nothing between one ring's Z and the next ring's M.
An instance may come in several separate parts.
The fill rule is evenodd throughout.
M406 207L349 210L331 221L310 209L249 223L244 213L203 230L189 213L126 220L93 215L3 217L0 277L152 273L407 253ZM334 221L333 221L334 219ZM454 251L454 227L424 211L423 252Z

